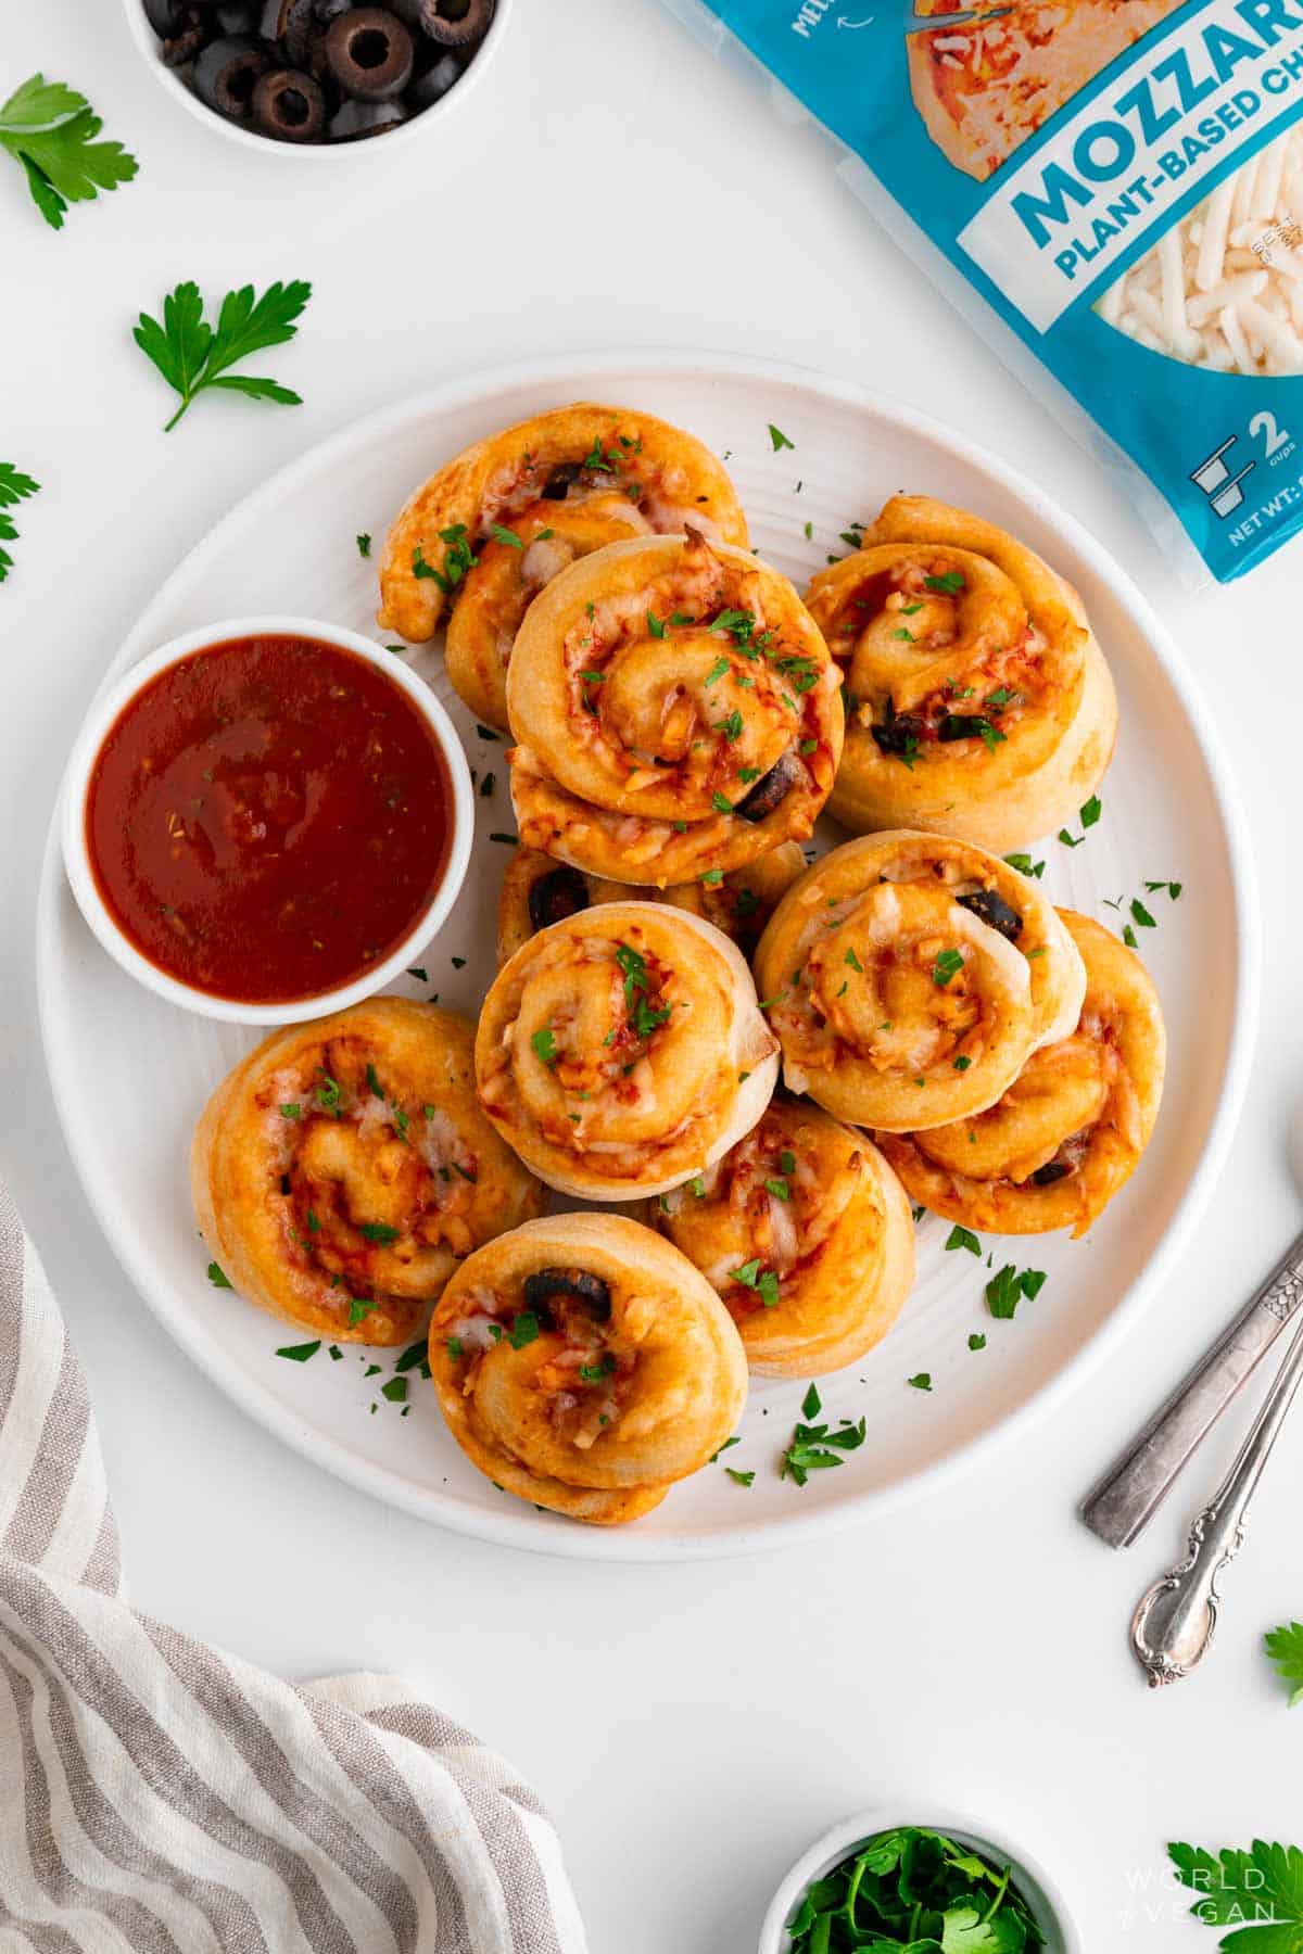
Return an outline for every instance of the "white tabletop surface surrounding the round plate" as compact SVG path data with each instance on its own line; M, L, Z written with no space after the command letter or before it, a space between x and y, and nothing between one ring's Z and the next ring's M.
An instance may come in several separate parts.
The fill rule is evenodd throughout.
M45 485L0 592L0 1167L90 1374L135 1600L287 1675L402 1671L471 1721L553 1805L594 1954L750 1954L807 1839L897 1790L1024 1837L1076 1901L1090 1954L1215 1946L1162 1891L1164 1843L1303 1843L1303 1712L1285 1712L1260 1655L1262 1630L1303 1616L1303 1417L1227 1579L1215 1657L1162 1696L1145 1694L1125 1622L1221 1460L1192 1467L1129 1555L1098 1546L1072 1505L1299 1223L1303 541L1246 584L1184 594L1100 469L834 184L822 143L779 133L654 0L518 0L496 72L438 139L338 172L207 135L143 72L107 0L8 8L0 92L37 66L92 96L143 174L55 236L20 172L0 170L0 453ZM293 276L316 295L266 369L307 406L205 399L164 438L170 397L131 344L135 313L180 277L221 295ZM31 911L59 766L178 555L371 406L492 360L608 344L822 365L1043 481L1182 639L1231 746L1264 893L1248 1112L1149 1321L1051 1424L944 1501L717 1567L584 1567L453 1540L248 1424L119 1274L70 1178L35 1032Z

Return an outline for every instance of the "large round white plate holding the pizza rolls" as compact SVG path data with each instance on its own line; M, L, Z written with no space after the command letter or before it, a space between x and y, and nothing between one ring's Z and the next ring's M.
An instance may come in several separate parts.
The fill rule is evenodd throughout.
M946 1253L947 1225L920 1227L918 1284L901 1323L862 1364L822 1381L834 1417L867 1419L867 1444L801 1489L779 1479L801 1383L758 1381L740 1444L725 1464L754 1469L746 1491L705 1467L625 1530L584 1528L496 1491L445 1434L420 1372L412 1407L379 1395L381 1374L346 1346L309 1364L279 1360L293 1333L205 1280L189 1211L189 1133L213 1084L250 1034L180 1012L133 985L90 936L45 862L39 995L45 1051L72 1159L127 1274L178 1342L231 1397L291 1446L379 1499L445 1526L586 1559L658 1559L750 1551L852 1518L906 1491L936 1487L1080 1381L1137 1317L1170 1268L1221 1167L1244 1088L1258 993L1250 854L1225 762L1188 672L1139 592L1055 510L1051 498L934 422L848 383L797 367L723 356L594 356L457 381L375 414L315 447L242 502L180 565L105 676L209 619L299 610L373 629L375 573L354 537L377 543L408 488L467 442L572 399L627 403L682 422L727 455L760 553L803 584L852 518L897 488L981 510L1080 588L1121 696L1121 739L1104 782L1104 817L1084 846L1049 840L1045 891L1121 928L1106 899L1141 895L1158 926L1141 930L1168 1020L1168 1086L1141 1170L1086 1243L990 1239L994 1266L1049 1272L1014 1321L992 1321L985 1260ZM774 451L770 422L795 447ZM799 485L799 487L797 487ZM813 524L813 541L805 524ZM475 735L438 657L422 670L449 705L481 780L481 834L461 903L438 944L414 959L416 997L475 1012L492 973L492 920L510 830L502 746ZM1080 832L1080 827L1074 828ZM1145 881L1180 881L1180 901ZM461 971L451 957L465 957ZM969 1352L969 1333L987 1348ZM932 1391L910 1389L916 1372Z

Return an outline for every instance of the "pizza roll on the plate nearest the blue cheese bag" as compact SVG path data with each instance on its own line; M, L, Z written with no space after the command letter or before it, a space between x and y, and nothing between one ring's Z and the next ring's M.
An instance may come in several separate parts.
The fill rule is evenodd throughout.
M1117 700L1076 592L1004 530L893 496L807 602L846 676L830 809L996 854L1071 821L1114 752Z

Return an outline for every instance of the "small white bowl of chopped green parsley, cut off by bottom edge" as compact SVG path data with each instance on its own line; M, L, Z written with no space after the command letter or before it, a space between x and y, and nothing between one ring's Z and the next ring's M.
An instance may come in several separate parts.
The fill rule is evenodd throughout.
M856 1811L779 1886L760 1954L1080 1954L1067 1901L983 1819L918 1804Z

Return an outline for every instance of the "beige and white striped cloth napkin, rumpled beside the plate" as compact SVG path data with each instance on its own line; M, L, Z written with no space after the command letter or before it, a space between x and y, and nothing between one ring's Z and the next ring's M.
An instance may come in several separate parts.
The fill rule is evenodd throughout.
M551 1821L387 1677L127 1606L63 1317L0 1186L0 1954L584 1954Z

